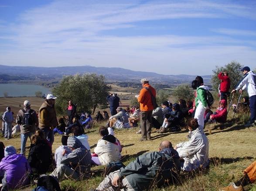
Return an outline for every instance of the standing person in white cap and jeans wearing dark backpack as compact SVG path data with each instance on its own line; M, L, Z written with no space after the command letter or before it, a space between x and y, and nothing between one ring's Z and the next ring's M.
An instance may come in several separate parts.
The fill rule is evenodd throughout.
M36 112L30 108L30 102L28 100L24 101L24 108L20 109L17 113L16 122L20 125L20 154L25 153L25 147L27 142L27 137L30 138L32 134L36 131L36 126L38 124L38 117Z

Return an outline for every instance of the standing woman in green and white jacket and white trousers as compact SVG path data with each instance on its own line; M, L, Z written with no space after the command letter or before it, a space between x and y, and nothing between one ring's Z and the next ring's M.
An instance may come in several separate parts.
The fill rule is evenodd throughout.
M192 81L192 88L196 89L197 96L195 98L195 119L198 120L199 128L203 131L205 126L204 114L208 109L208 103L206 101L205 90L209 90L207 86L204 86L204 80L201 76L197 76Z

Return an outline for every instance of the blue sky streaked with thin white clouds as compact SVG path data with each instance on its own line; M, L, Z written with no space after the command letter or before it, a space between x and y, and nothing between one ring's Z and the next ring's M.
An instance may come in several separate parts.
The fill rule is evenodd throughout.
M256 68L256 1L0 0L0 64L208 75Z

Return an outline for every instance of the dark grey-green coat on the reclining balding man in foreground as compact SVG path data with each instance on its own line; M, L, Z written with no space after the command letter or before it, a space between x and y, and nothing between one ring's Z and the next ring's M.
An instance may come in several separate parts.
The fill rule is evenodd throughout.
M148 190L152 186L162 186L169 180L172 183L174 160L179 155L173 148L160 152L154 151L140 155L118 172L119 177L125 177L135 191ZM179 165L177 165L179 166ZM179 168L179 167L178 167Z

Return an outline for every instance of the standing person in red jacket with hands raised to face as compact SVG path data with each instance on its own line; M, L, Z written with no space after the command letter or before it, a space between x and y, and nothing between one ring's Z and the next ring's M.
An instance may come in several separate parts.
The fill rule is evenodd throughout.
M219 72L218 79L220 79L220 100L225 99L227 101L227 95L230 89L230 78L228 72Z

